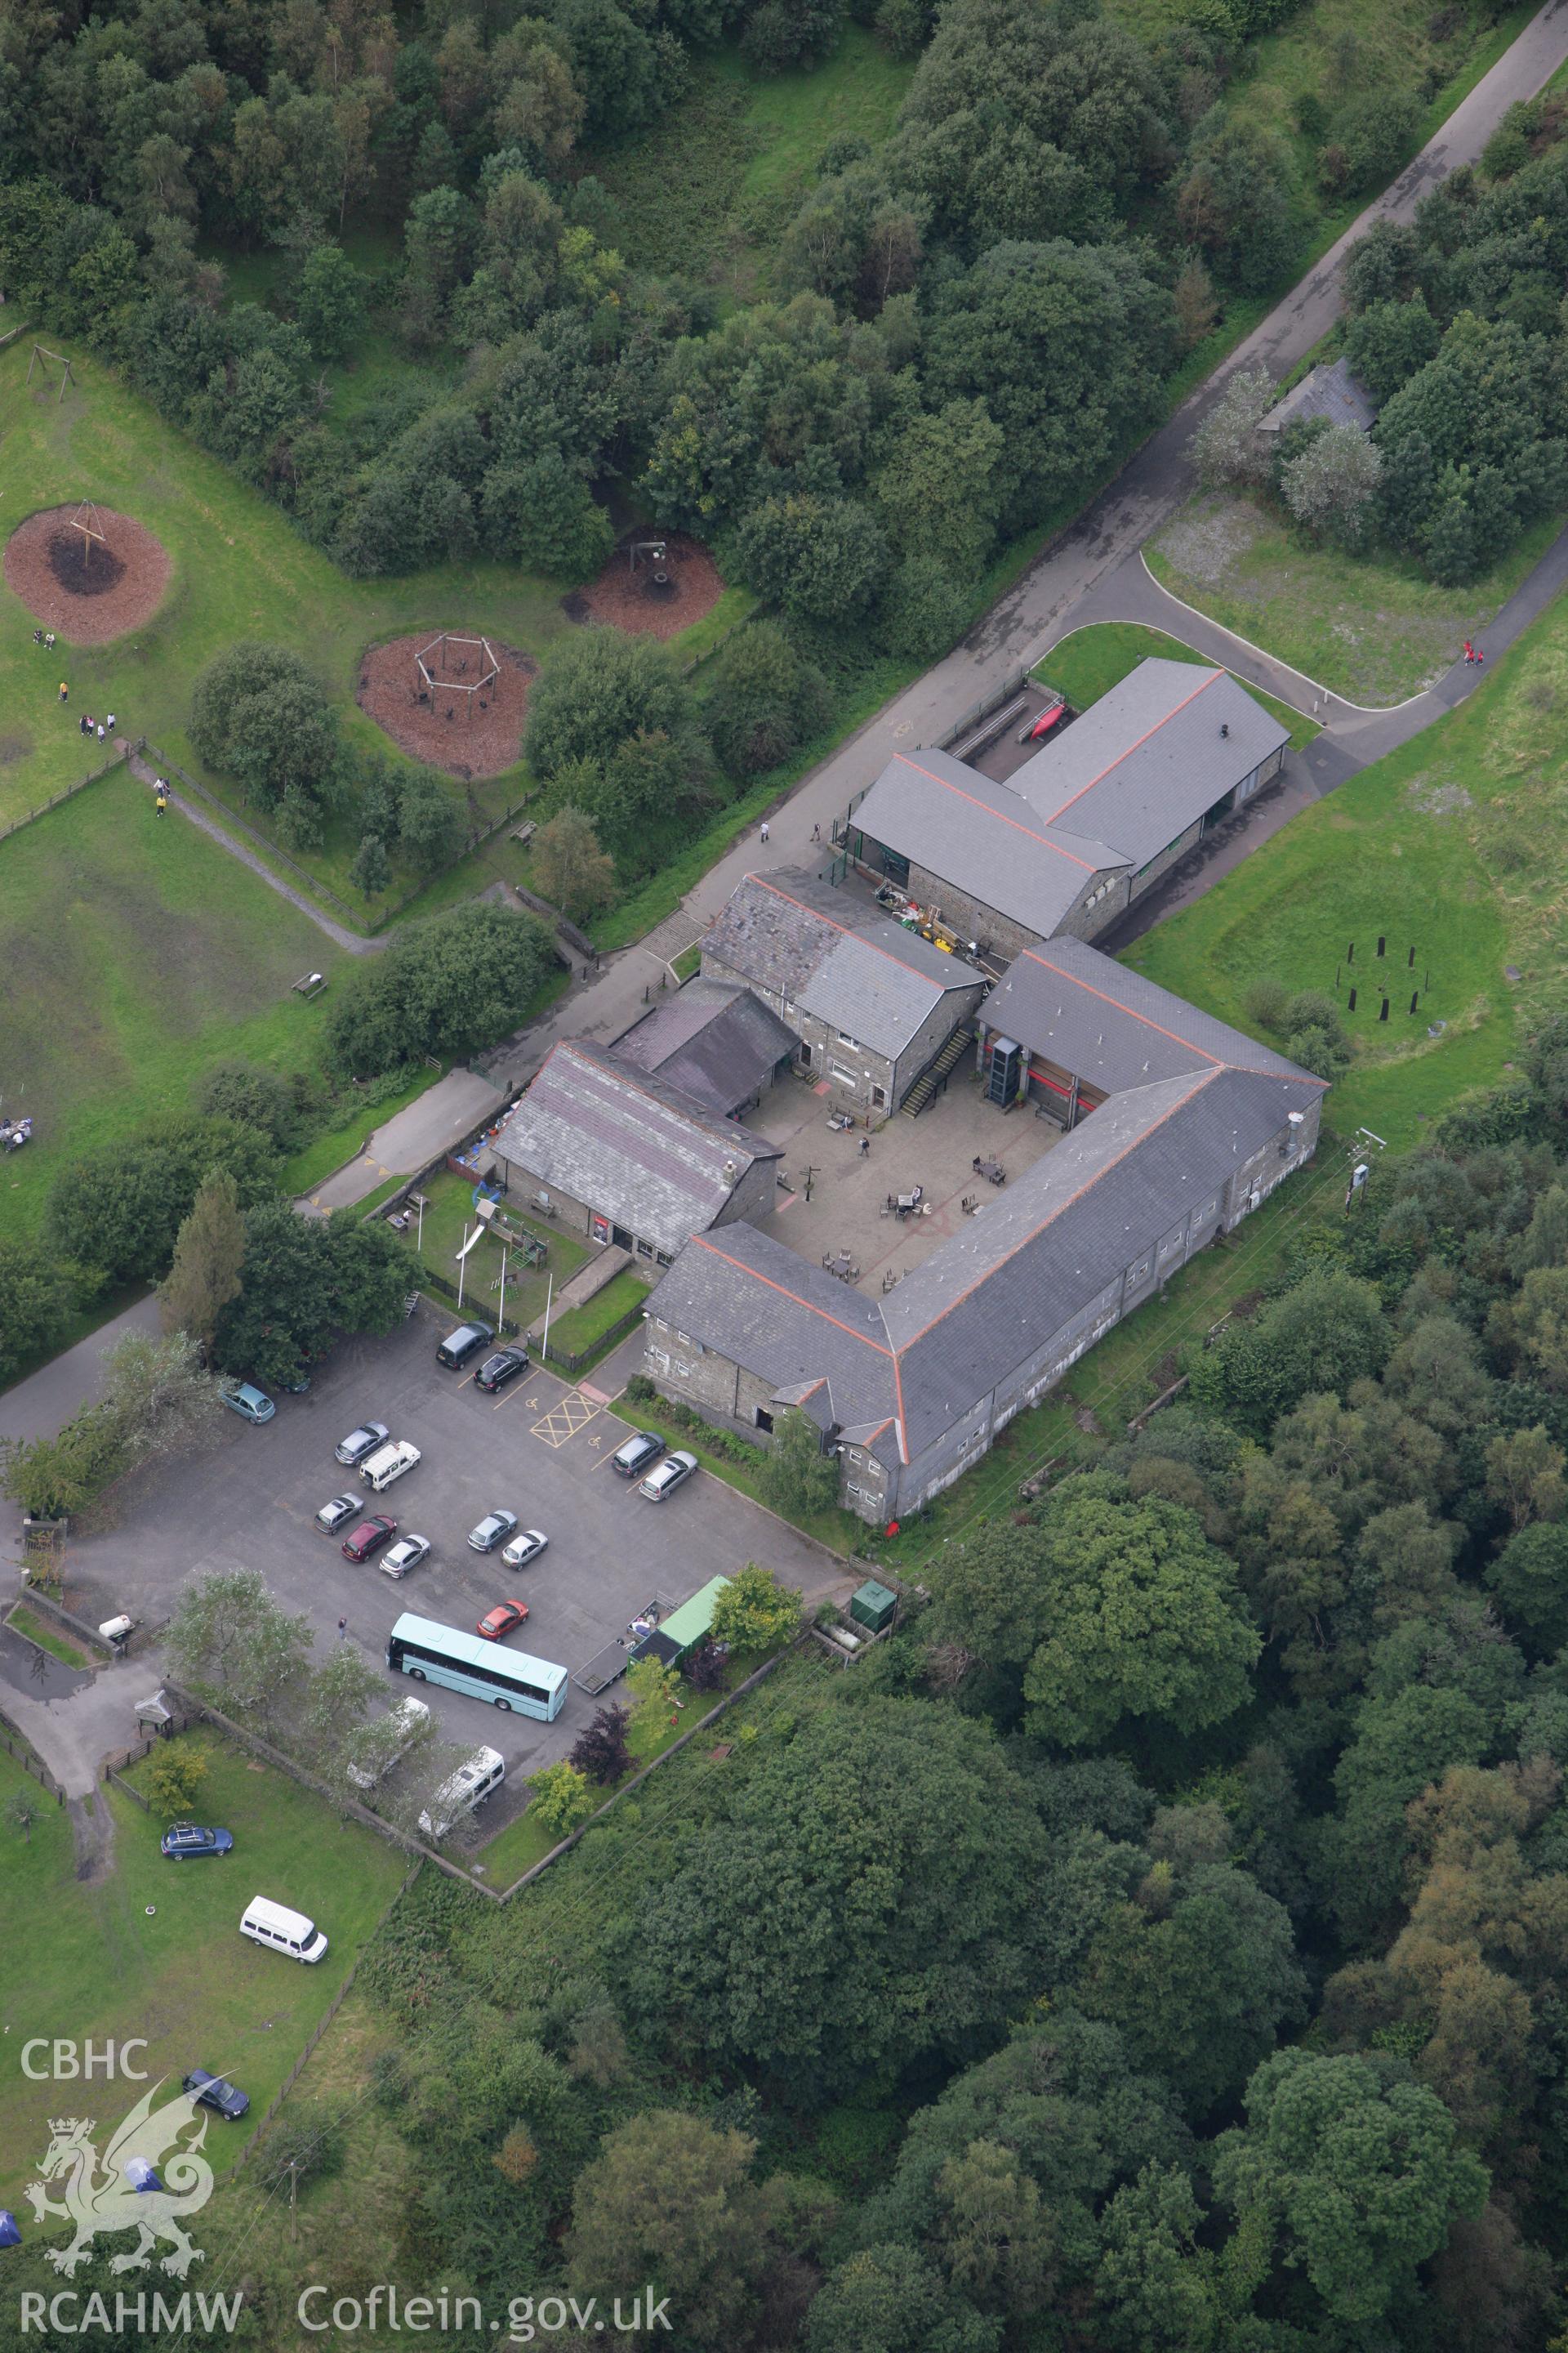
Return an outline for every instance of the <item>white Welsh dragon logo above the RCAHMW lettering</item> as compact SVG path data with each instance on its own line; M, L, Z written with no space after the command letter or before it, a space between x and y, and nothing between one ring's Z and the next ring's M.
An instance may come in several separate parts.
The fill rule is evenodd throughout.
M92 2146L96 2118L56 2115L49 2118L49 2146L38 2165L38 2181L28 2181L26 2198L38 2221L59 2214L75 2224L68 2247L45 2247L45 2259L75 2278L78 2264L92 2254L99 2231L136 2231L129 2254L115 2254L110 2271L146 2271L160 2240L169 2240L172 2252L162 2259L162 2271L183 2280L193 2264L207 2261L181 2231L181 2217L200 2214L212 2198L212 2165L202 2155L207 2118L193 2141L176 2148L179 2134L197 2122L195 2099L181 2092L153 2113L167 2078L136 2101L103 2151ZM63 2198L49 2198L45 2184L66 2184ZM146 2181L146 2188L136 2188Z

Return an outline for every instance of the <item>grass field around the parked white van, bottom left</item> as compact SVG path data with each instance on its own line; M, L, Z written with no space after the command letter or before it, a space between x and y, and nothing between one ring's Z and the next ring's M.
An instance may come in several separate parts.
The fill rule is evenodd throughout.
M0 1758L7 1798L21 1779L21 1767ZM28 1845L5 1833L0 2024L19 2040L146 2035L141 2066L153 2078L207 2066L249 2092L261 2115L393 1901L402 1857L339 1821L287 1774L256 1772L216 1739L197 1817L235 1833L230 1857L197 1871L167 1864L158 1814L143 1814L113 1786L92 1802L106 1805L115 1826L113 1868L99 1885L75 1875L63 1807L45 1802ZM320 1920L331 1939L327 1958L306 1969L240 1937L254 1894ZM0 2075L0 2202L19 2202L16 2186L42 2153L47 2118L61 2113L63 2097L59 2082L31 2082L21 2068ZM96 2082L92 2097L94 2113L118 2120L139 2087ZM237 2146L244 2129L214 2118L207 2153L219 2165L230 2139Z

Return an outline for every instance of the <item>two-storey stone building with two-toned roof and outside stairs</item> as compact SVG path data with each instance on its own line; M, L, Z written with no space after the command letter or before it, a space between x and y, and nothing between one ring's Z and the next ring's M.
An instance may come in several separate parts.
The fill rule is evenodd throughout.
M795 1068L858 1111L896 1111L985 993L964 958L792 866L731 892L703 979L762 998L795 1033Z

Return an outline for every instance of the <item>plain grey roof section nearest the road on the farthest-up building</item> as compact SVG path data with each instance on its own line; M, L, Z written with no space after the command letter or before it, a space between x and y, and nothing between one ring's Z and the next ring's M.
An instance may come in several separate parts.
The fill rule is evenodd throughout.
M851 816L943 882L1048 934L1121 852L1041 826L1011 784L994 784L945 751L896 753Z

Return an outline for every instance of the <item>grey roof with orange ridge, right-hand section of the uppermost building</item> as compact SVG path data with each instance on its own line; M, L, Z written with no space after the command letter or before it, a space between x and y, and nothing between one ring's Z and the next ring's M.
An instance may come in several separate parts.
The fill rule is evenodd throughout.
M1147 866L1288 741L1291 729L1229 671L1140 661L1037 751L1013 788L1044 824L1084 828L1114 842L1131 866Z

